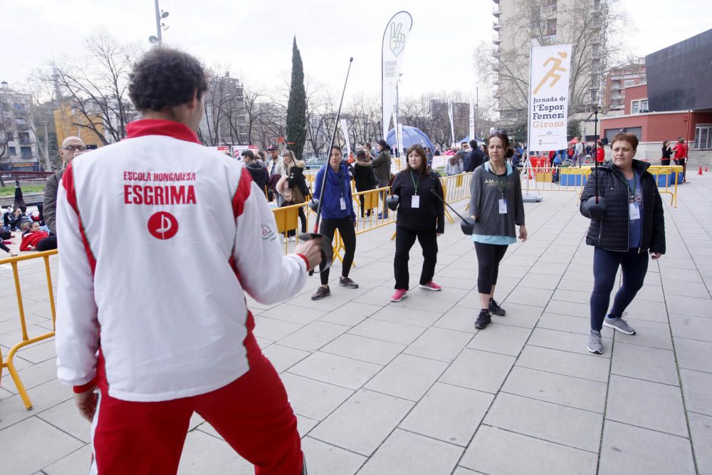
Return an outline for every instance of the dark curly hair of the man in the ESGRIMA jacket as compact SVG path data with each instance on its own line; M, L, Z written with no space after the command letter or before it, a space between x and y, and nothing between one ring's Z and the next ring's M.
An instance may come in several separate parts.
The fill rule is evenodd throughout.
M138 110L160 112L201 98L208 80L200 61L171 48L153 48L129 76L129 97Z

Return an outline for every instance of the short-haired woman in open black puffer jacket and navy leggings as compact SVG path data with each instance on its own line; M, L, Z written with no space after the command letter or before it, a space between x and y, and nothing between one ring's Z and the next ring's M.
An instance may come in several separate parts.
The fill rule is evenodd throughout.
M602 325L635 335L621 317L643 286L648 253L654 260L665 254L662 200L655 178L647 172L650 165L633 160L637 147L635 135L613 137L612 161L591 175L581 195L581 214L591 219L586 244L595 246L588 350L598 355L603 353ZM604 202L596 203L596 180ZM623 285L606 314L619 267Z

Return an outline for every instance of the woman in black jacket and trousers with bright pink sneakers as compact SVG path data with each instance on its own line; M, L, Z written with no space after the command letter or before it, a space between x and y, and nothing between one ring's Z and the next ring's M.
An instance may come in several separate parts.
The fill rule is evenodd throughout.
M392 302L402 301L409 288L408 259L417 238L423 249L420 287L439 291L433 282L438 256L437 236L445 231L445 206L434 194L443 197L440 180L428 168L425 150L413 145L407 152L407 166L393 180L392 192L399 197L396 219L396 255L393 270L396 277Z

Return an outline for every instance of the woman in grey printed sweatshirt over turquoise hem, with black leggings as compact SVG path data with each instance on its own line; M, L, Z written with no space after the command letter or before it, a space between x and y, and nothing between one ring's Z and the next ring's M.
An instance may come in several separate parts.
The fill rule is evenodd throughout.
M470 185L470 212L475 221L472 240L477 253L477 291L481 308L475 321L478 330L490 324L492 313L506 314L494 300L494 290L499 263L507 247L517 241L515 224L519 226L519 239L527 239L519 172L506 161L514 155L509 137L501 132L490 135L487 153L488 162L475 169Z

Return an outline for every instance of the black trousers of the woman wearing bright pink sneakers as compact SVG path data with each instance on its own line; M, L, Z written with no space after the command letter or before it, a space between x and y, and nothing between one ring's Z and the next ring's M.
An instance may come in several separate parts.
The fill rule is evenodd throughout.
M409 277L408 260L410 249L418 239L423 249L423 269L420 272L420 283L425 284L433 280L435 264L438 261L438 239L434 229L412 230L402 226L396 228L396 256L393 259L393 271L396 276L394 288L408 290Z

